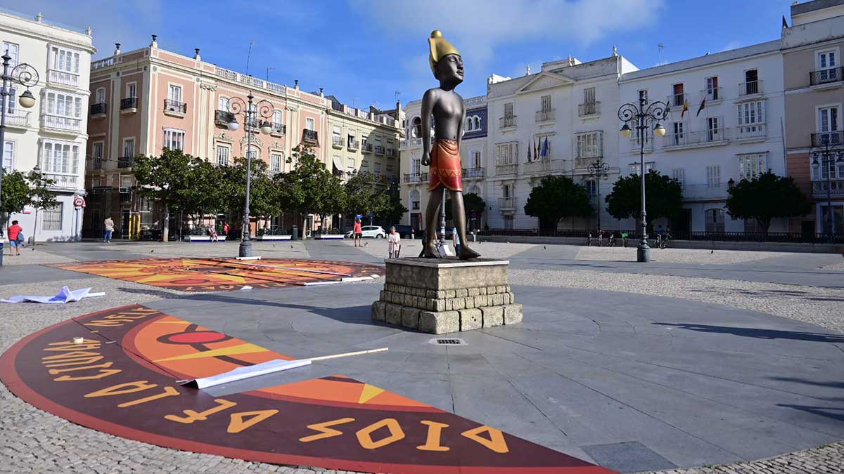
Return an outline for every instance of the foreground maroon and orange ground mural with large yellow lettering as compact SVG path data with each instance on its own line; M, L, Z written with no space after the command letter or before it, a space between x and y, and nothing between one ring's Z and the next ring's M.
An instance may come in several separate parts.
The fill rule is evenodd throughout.
M248 461L413 474L613 472L344 375L219 397L176 383L276 358L292 359L133 304L24 337L0 357L0 380L73 423Z

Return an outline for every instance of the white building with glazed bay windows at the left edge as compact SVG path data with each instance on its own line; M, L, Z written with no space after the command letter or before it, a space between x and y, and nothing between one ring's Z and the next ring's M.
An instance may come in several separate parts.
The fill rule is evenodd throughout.
M13 213L24 235L36 240L76 240L82 229L84 208L74 207L74 197L84 196L85 149L90 58L95 52L91 31L79 32L46 22L39 13L24 19L0 13L0 46L12 65L35 67L39 82L30 88L35 106L18 104L24 87L12 85L3 143L3 169L30 173L37 164L46 178L55 181L58 205L50 209L25 209Z

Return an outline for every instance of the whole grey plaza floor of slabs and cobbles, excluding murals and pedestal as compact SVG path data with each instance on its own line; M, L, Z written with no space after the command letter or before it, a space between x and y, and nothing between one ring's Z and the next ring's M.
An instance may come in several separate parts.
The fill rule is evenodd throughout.
M266 258L382 264L386 242L255 243ZM415 256L419 241L404 241ZM621 472L844 471L844 258L730 250L478 243L511 261L524 322L455 335L377 324L378 280L184 293L46 264L235 256L236 243L40 245L5 257L0 297L106 296L0 306L0 351L62 320L139 303L279 353L390 347L212 391L345 374ZM41 412L0 388L0 471L322 471L171 450Z

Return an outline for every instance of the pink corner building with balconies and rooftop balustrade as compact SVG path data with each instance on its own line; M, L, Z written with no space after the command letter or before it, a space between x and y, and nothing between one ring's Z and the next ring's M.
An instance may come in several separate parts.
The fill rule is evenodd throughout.
M268 135L245 127L242 113L235 117L241 123L238 130L227 127L235 98L245 103L250 92L255 102L273 105L273 116L267 119L273 132ZM330 104L324 97L203 62L198 49L193 57L181 56L160 49L155 38L149 46L125 53L118 45L112 57L91 64L90 93L84 233L91 236L101 233L106 216L114 219L119 237L160 234L160 209L136 193L133 161L138 154L179 148L226 165L251 151L269 170L284 172L295 166L287 163L293 148L307 144L326 160ZM247 150L250 130L252 149Z

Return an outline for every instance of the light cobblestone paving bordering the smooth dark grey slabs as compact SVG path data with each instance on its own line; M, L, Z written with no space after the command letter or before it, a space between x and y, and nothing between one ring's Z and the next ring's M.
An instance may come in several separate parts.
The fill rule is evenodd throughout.
M414 242L418 245L419 241ZM154 256L217 256L215 245L133 245L127 252L154 253ZM221 244L221 246L224 244ZM260 247L258 247L260 245ZM300 243L258 244L262 253L273 257L308 258L311 254ZM383 245L383 249L381 249ZM266 248L264 248L266 246ZM349 246L350 243L349 243ZM484 256L507 258L535 245L481 245ZM99 247L99 246L98 246ZM226 250L235 245L225 244ZM411 248L410 245L406 248ZM52 250L52 249L51 249ZM27 263L72 261L73 248L62 248L56 254L36 250ZM111 249L110 249L111 250ZM154 252L149 252L154 250ZM352 249L350 249L352 250ZM357 250L357 249L354 249ZM352 250L352 251L354 251ZM635 250L635 249L634 249ZM386 242L376 241L363 251L371 256L384 256ZM679 250L678 250L679 251ZM689 250L682 250L689 251ZM58 254L61 255L58 255ZM726 250L719 253L727 253ZM782 254L778 254L782 255ZM318 256L317 256L318 257ZM13 259L16 257L13 257ZM26 257L20 257L22 260ZM703 258L706 258L703 256ZM741 256L735 256L741 261ZM746 261L746 260L745 260ZM25 267L19 267L23 269ZM16 269L15 271L19 271ZM832 269L832 268L828 268ZM835 268L840 269L840 268ZM62 282L5 284L0 297L12 294L50 294ZM73 288L92 287L104 291L101 298L84 299L75 304L3 305L0 317L0 351L5 351L21 337L61 320L122 304L145 303L181 296L181 292L150 288L138 283L103 277L83 277L66 281ZM371 283L364 283L371 284ZM715 278L665 277L591 270L512 270L511 284L533 284L566 288L596 288L672 298L694 299L712 304L756 310L772 315L803 320L827 329L844 332L841 315L844 291L798 285L750 283ZM227 459L216 455L195 454L162 448L68 423L60 417L31 407L0 385L0 472L283 472L285 474L341 474L312 467L276 466ZM659 471L660 474L834 474L844 472L844 442L828 444L759 461L727 466L703 466L693 469Z

